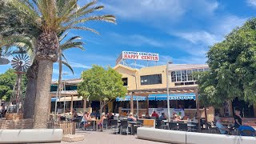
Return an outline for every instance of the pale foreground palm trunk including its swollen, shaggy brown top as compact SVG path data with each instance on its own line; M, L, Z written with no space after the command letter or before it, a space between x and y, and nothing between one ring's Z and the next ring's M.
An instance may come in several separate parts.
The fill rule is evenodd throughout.
M47 128L50 117L50 82L53 63L58 60L58 37L54 31L46 30L37 39L38 82L34 106L34 128Z

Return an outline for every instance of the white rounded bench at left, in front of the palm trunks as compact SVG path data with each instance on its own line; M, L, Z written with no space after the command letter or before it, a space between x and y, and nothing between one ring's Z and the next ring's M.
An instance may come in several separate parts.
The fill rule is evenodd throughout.
M62 129L0 130L0 143L61 142Z

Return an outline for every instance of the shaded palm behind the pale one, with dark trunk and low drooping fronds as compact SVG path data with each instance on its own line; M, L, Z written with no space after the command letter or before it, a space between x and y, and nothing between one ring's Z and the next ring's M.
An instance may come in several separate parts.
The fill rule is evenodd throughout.
M63 36L60 37L60 53L61 55L58 60L59 63L59 75L62 74L62 64L67 66L72 74L74 74L74 70L70 66L69 62L67 61L65 55L62 53L62 50L69 50L70 48L79 48L81 50L84 50L83 42L79 42L77 40L81 39L79 36L74 36L72 38L69 38L66 42L62 42L64 38L66 38L67 33L63 34ZM13 39L12 41L6 41L6 39ZM25 101L24 101L24 113L23 118L33 118L34 115L34 104L35 104L35 94L36 94L36 86L37 86L37 78L38 78L38 61L34 59L33 50L34 50L34 38L28 38L25 35L19 34L19 35L10 35L6 38L3 38L3 41L6 41L6 50L8 50L9 47L17 46L18 50L14 51L8 51L5 55L10 54L22 54L22 53L28 53L30 55L30 58L33 61L33 65L30 66L30 69L26 73L26 77L28 78L27 87L26 87L26 95L25 95ZM4 45L4 46L6 46ZM2 47L0 47L2 48ZM64 58L64 60L62 60ZM61 81L61 79L59 80Z

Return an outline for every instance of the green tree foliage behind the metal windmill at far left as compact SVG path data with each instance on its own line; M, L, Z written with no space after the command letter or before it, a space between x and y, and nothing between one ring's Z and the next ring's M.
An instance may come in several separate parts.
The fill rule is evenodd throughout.
M0 98L4 100L10 100L13 94L14 85L16 82L17 74L14 73L15 70L9 69L4 74L0 74ZM26 76L22 77L22 94L25 93L26 88Z

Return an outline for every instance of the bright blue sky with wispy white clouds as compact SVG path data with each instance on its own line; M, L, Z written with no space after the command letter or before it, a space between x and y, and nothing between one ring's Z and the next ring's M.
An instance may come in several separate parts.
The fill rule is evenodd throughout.
M80 4L89 2L81 0ZM234 27L242 26L256 12L256 0L100 0L104 10L98 14L114 14L117 24L90 22L86 26L100 35L86 31L70 31L86 43L85 51L66 50L64 54L75 74L64 68L63 78L80 78L82 70L93 64L114 66L122 50L159 54L158 65L174 63L206 63L206 52L221 42ZM137 67L145 62L137 62ZM1 66L0 74L10 65ZM53 79L58 78L54 64Z

